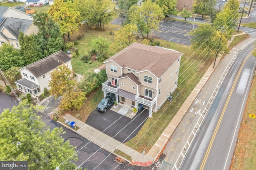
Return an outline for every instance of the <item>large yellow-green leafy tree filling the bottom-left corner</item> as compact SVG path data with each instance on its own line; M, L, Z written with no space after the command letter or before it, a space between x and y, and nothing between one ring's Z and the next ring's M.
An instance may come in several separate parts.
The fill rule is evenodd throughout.
M21 102L0 115L0 160L27 160L28 169L55 170L75 153L69 141L64 143L62 128L52 131L36 116L36 106ZM69 158L62 170L75 169Z

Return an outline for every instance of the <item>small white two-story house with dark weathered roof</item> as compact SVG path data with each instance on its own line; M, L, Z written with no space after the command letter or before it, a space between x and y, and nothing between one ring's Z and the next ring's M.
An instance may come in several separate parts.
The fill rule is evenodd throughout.
M72 70L71 60L66 53L58 51L32 64L21 68L22 78L17 80L16 86L23 93L30 93L33 98L44 93L44 88L49 89L50 72L61 64L66 64Z

